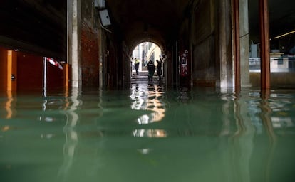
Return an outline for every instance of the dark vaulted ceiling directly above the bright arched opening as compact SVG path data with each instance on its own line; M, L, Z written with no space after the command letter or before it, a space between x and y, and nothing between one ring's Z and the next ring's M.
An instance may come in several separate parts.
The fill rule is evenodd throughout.
M192 0L107 0L107 6L118 24L127 45L143 41L162 45L175 36Z

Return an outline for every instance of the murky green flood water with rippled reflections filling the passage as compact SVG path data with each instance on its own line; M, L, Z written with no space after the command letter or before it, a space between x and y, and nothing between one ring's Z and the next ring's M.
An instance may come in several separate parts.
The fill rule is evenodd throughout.
M0 96L0 181L294 181L294 90Z

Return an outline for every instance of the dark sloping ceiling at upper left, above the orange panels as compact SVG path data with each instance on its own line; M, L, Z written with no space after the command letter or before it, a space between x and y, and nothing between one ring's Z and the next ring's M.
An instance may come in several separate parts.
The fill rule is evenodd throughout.
M66 7L64 0L1 0L0 45L61 57L66 53Z

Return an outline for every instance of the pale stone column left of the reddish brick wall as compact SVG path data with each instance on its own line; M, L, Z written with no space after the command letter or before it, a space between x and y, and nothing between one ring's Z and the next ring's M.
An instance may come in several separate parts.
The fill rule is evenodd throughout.
M68 0L68 63L71 65L72 87L82 86L81 41L79 41L81 1Z

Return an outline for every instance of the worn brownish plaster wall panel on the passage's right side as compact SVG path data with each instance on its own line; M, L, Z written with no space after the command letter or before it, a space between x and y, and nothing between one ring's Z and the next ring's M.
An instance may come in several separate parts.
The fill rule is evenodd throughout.
M215 4L200 1L192 14L192 82L214 86L216 82Z

